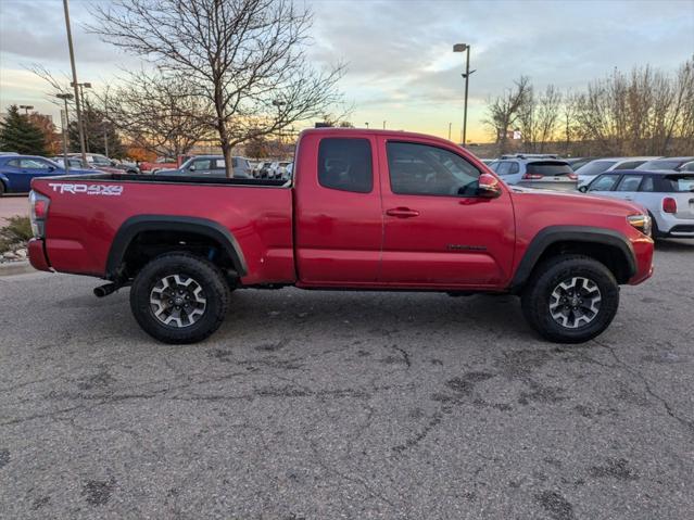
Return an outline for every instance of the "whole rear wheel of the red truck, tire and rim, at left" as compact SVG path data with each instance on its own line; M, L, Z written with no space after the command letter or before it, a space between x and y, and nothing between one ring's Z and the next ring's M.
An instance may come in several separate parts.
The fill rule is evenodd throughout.
M211 262L189 253L167 253L135 277L130 308L137 322L164 343L195 343L219 328L229 286Z

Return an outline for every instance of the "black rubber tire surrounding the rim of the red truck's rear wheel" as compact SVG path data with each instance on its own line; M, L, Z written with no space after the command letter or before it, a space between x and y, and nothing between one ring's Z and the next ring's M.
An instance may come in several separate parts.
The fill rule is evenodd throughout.
M180 320L178 326L165 325L155 316L153 309L156 304L152 304L151 297L161 280L176 275L186 281L192 279L195 287L201 288L200 294L205 304L195 321L187 318L189 322L185 325ZM151 261L135 277L130 289L130 308L142 330L152 338L173 344L197 343L219 328L227 313L229 296L229 286L217 266L190 253L167 253ZM169 310L173 308L169 307Z

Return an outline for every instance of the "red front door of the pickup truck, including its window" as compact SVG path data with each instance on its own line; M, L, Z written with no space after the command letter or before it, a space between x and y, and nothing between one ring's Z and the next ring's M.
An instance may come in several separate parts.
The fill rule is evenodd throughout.
M499 288L510 280L514 212L504 189L477 196L481 172L453 148L381 138L383 252L379 281Z

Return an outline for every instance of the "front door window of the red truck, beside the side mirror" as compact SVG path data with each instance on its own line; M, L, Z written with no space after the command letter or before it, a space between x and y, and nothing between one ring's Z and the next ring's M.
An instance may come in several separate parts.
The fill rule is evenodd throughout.
M480 172L459 155L411 142L387 144L390 187L409 195L475 196Z

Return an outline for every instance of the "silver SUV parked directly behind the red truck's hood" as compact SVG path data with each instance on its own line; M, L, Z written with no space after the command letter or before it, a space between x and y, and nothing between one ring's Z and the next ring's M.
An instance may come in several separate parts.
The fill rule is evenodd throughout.
M561 191L577 188L577 177L571 166L557 158L502 158L489 167L507 185Z

